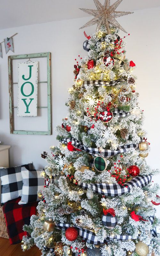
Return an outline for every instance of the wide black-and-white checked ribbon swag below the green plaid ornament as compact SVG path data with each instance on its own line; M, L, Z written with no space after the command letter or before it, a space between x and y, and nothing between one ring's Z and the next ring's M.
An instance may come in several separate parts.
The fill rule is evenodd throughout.
M152 179L152 175L140 175L132 178L132 180L124 183L124 185L108 184L108 183L87 184L84 182L77 181L73 178L71 178L70 181L75 186L78 186L85 190L87 190L88 188L91 188L93 193L116 197L116 196L121 196L128 193L132 189L132 187L143 188L144 186L147 186L151 181L151 179Z

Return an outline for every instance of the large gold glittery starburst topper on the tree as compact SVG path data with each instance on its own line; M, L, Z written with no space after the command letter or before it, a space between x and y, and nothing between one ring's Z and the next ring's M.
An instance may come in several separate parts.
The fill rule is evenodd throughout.
M116 18L131 14L133 12L119 12L116 11L116 8L123 0L117 0L114 4L110 5L110 0L105 0L104 4L102 5L100 1L93 0L94 4L97 7L97 10L92 9L84 9L80 8L80 10L89 13L90 15L94 16L94 18L90 21L88 21L83 27L80 29L83 29L85 27L97 24L97 30L100 29L101 25L105 25L107 28L108 34L110 33L109 25L112 25L116 28L121 29L125 33L125 29L116 21Z

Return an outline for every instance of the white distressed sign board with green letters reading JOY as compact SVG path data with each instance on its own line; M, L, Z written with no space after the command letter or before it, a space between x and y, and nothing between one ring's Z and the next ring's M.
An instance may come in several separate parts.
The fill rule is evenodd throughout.
M38 62L18 63L17 116L37 116Z

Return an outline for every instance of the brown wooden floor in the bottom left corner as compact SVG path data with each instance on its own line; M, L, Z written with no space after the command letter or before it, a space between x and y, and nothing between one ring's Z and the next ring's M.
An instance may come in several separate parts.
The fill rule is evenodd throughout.
M9 239L0 237L0 255L1 256L41 256L41 251L36 247L23 252L20 244L11 245Z

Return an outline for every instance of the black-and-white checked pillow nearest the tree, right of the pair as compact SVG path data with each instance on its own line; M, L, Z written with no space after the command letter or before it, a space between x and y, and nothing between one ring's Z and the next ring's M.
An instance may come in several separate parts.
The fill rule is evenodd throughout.
M43 169L28 170L22 167L23 187L19 204L39 201L37 191L44 189L44 178L40 177L41 171L43 171Z

